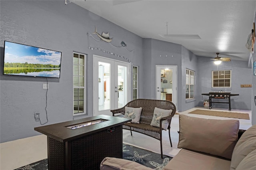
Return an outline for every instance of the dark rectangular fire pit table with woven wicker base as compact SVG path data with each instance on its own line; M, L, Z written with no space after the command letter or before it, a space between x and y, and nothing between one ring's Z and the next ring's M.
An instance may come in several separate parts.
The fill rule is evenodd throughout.
M122 158L122 125L129 121L99 115L34 130L47 135L49 170L98 170L106 156Z

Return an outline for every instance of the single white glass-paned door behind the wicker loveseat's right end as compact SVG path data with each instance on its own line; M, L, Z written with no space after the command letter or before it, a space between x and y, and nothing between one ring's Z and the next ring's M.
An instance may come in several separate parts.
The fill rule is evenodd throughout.
M177 107L176 65L156 65L156 99L172 101Z

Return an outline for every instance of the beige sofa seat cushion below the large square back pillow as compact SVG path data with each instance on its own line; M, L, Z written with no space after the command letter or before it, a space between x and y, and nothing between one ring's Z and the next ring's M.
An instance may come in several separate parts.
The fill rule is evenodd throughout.
M163 170L229 170L230 160L182 149Z

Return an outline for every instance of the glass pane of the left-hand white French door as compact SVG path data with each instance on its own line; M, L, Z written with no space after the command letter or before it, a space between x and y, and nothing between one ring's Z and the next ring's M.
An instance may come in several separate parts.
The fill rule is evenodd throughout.
M98 110L110 109L110 63L98 62Z

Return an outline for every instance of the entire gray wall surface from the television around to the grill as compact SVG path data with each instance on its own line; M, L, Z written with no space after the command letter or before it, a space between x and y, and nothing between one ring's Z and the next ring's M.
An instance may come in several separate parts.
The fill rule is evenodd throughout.
M88 12L76 4L64 4L64 1L0 1L0 142L16 140L40 133L34 127L34 112L40 112L42 122L46 121L46 90L42 89L45 78L15 77L2 75L4 40L34 45L46 49L62 51L60 79L48 79L48 120L46 125L90 117L93 113L93 54L121 61L126 59L88 49L88 45L98 46L125 57L139 67L139 98L155 99L156 72L155 65L177 65L178 77L178 110L185 111L201 104L201 93L211 91L209 79L211 70L216 69L209 63L208 57L197 57L182 45L162 42L159 40L142 39L131 32L117 26L99 16ZM88 38L87 33L109 32L113 37L112 44L120 46L127 43L127 49L114 48L109 43L96 42ZM72 53L73 51L87 54L86 58L86 116L73 117L73 85L72 85ZM168 55L168 57L160 57ZM173 57L170 57L170 56ZM232 93L241 93L241 79L250 81L251 69L240 61L232 61L223 69L232 69L238 75L232 79ZM186 103L183 87L186 68L196 71L196 99ZM234 82L233 82L234 81ZM239 86L239 87L238 87ZM238 109L250 110L251 91L243 89L237 101ZM255 92L255 90L254 90ZM250 94L247 94L250 93ZM223 106L226 108L226 106ZM236 109L233 107L233 109Z

